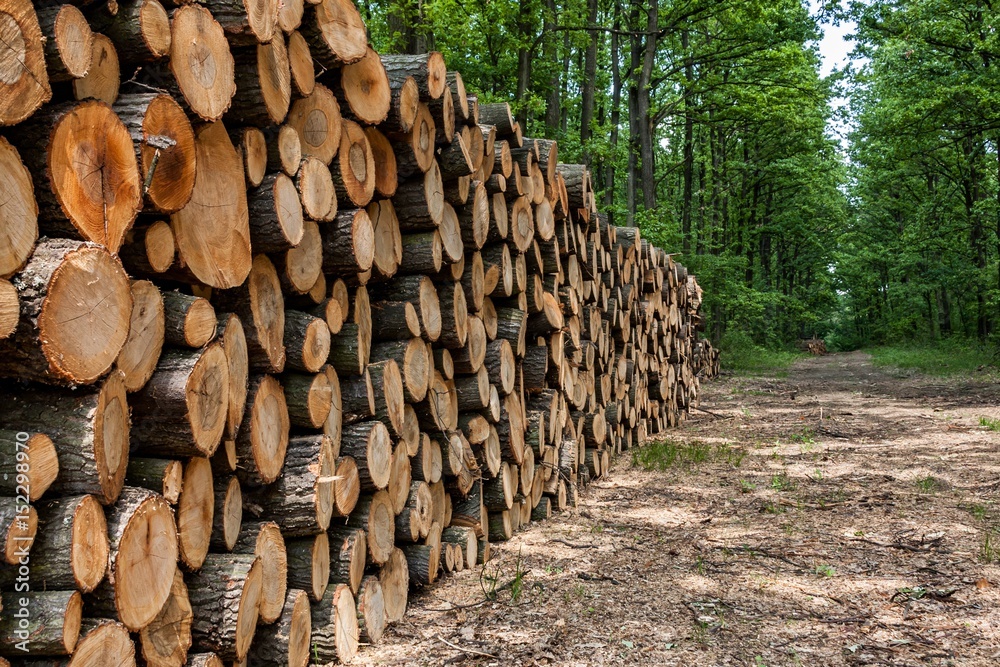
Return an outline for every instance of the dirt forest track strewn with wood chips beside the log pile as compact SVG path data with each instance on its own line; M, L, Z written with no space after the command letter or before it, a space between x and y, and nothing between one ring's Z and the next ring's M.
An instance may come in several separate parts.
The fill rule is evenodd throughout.
M1000 384L850 353L702 389L662 469L619 456L355 664L1000 664Z

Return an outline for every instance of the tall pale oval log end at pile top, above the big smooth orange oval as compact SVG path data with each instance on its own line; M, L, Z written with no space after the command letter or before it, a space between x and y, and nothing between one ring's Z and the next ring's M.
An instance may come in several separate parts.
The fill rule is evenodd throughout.
M225 31L205 7L184 5L171 15L170 71L184 102L202 120L217 121L229 109L235 63Z

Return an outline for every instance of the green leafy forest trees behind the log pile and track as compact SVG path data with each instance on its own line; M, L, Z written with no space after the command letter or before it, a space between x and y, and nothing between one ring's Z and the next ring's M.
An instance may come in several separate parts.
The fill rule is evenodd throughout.
M698 274L716 342L992 333L1000 38L988 4L374 0L362 11L377 49L441 51L470 92L510 101L526 136L590 161L613 222ZM823 77L830 21L857 26L859 59ZM849 99L843 118L835 97Z

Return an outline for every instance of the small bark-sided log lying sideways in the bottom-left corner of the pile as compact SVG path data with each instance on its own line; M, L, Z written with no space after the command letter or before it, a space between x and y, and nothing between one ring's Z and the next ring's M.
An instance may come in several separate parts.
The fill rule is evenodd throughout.
M7 609L30 610L27 618L14 613L0 617L0 654L24 655L18 646L34 656L69 655L76 648L83 615L79 591L3 593L0 600Z

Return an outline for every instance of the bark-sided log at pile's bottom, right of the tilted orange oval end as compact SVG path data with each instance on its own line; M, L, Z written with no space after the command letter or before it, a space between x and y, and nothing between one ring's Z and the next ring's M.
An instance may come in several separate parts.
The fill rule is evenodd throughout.
M261 559L251 554L209 554L189 584L193 646L242 661L260 616L265 589ZM284 596L279 604L283 602Z

